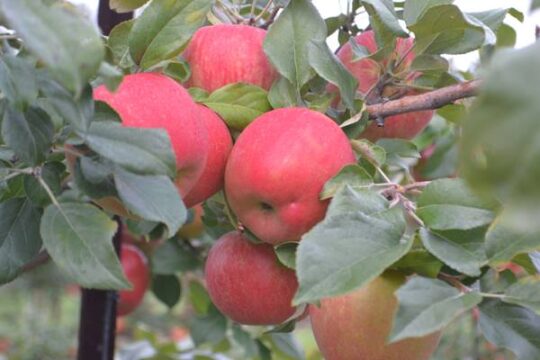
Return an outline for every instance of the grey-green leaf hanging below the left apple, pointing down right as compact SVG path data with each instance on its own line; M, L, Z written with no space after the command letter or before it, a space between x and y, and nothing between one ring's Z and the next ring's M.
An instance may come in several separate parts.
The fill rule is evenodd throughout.
M114 170L118 196L127 208L145 220L167 225L175 234L187 219L178 189L164 175L137 175L120 168Z

